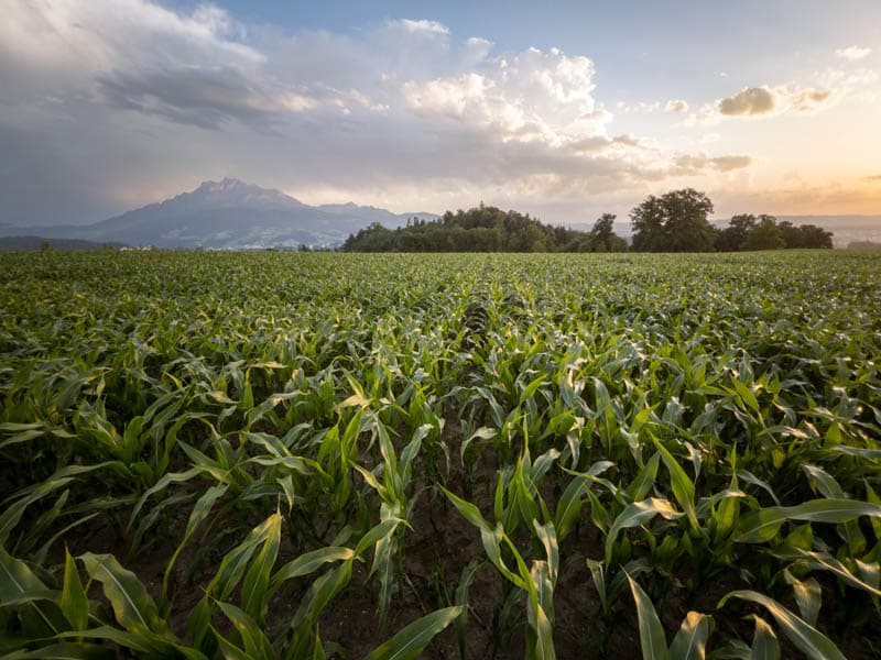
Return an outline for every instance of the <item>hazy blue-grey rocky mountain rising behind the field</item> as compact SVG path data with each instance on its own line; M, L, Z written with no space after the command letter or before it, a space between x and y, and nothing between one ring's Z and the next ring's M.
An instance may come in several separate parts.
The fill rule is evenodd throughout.
M355 204L309 206L279 190L235 178L205 182L183 193L116 218L87 226L32 227L29 234L99 243L246 250L273 246L334 246L372 222L400 227L407 218L433 213L392 213ZM0 227L0 235L22 228Z

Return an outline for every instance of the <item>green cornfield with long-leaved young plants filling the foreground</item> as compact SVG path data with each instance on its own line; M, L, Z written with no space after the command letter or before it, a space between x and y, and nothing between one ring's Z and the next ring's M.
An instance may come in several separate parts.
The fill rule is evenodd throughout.
M10 658L881 654L881 253L0 283Z

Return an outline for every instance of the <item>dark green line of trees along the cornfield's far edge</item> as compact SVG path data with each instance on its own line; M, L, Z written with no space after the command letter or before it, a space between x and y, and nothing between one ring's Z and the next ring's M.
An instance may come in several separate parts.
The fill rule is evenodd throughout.
M814 224L795 226L772 216L733 216L728 227L709 222L713 202L693 188L649 196L630 212L628 243L603 213L590 231L545 224L529 213L482 204L447 211L437 220L407 220L387 229L373 223L350 234L344 252L739 252L831 248L833 233Z

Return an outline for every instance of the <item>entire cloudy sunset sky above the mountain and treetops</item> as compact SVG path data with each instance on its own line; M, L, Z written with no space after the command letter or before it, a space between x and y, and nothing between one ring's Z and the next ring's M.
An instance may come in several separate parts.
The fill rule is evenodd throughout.
M307 204L881 215L881 2L3 0L0 222Z

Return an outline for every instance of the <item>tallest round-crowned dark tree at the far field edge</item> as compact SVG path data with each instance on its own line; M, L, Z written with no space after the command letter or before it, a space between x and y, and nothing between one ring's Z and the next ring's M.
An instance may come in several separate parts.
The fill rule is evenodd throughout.
M707 220L713 202L694 188L650 195L630 212L635 252L709 252L716 230Z

